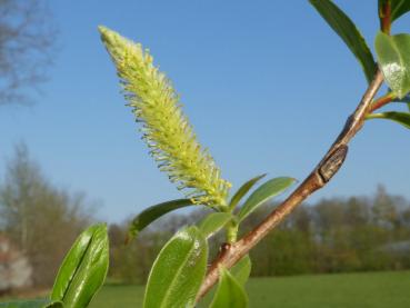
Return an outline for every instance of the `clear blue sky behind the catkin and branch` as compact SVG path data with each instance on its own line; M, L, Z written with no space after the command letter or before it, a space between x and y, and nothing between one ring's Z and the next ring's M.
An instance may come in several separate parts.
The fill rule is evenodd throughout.
M371 46L376 2L337 1ZM56 63L36 105L1 107L0 176L24 141L50 180L99 201L102 220L182 195L147 155L98 24L151 50L233 188L262 172L302 180L367 86L308 1L74 0L50 8L60 30ZM410 17L393 31L410 31ZM368 122L342 170L311 200L370 195L380 182L410 198L409 157L410 131Z

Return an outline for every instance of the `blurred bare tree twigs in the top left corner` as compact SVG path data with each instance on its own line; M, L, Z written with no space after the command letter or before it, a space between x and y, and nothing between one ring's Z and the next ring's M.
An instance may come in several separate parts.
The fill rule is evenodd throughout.
M46 0L0 0L0 106L46 80L56 28Z

